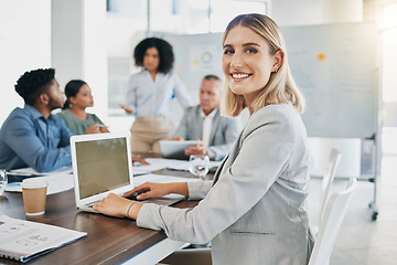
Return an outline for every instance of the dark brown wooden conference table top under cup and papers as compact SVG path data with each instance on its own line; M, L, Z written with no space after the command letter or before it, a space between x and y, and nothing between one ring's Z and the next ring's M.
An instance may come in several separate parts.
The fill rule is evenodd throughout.
M154 173L191 176L172 170ZM197 201L182 201L174 206L192 208L196 204ZM79 212L75 206L73 189L47 195L45 214L41 216L25 216L22 193L6 192L0 197L0 214L88 233L86 237L28 262L32 265L118 264L126 259L127 264L146 265L160 261L184 244L167 239L163 232L140 229L132 220ZM0 264L21 263L0 258Z

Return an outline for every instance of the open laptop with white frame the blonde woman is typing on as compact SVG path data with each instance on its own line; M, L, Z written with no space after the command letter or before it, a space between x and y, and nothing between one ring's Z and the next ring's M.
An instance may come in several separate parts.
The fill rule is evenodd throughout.
M129 132L78 135L71 138L75 201L78 210L95 212L93 204L109 193L133 189ZM183 198L144 202L171 205Z

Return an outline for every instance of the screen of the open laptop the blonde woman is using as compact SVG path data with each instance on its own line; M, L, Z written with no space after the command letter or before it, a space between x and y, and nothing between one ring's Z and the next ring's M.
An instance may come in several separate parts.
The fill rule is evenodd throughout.
M77 141L75 145L81 199L131 184L127 138Z

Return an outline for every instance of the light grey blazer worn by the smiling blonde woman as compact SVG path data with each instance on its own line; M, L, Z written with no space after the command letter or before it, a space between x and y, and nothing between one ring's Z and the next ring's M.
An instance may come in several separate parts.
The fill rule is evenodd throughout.
M290 104L254 113L207 181L189 182L193 209L143 204L137 224L176 241L212 241L213 263L308 264L309 149L301 117Z

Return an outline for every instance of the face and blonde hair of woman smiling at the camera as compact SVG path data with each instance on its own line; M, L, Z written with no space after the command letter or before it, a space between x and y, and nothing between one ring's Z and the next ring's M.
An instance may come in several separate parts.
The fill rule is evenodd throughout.
M254 20L234 20L224 34L224 114L238 116L245 107L253 114L280 103L291 103L303 113L304 97L290 73L283 38L272 26L269 31L249 26Z

